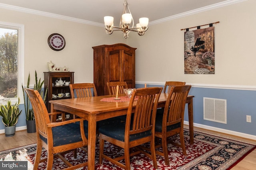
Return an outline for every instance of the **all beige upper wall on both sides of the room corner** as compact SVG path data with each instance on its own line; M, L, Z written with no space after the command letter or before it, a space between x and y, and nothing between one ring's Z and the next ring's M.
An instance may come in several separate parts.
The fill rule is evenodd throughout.
M46 63L69 67L75 82L93 82L92 47L126 43L136 47L136 82L180 80L191 84L255 86L255 0L150 25L144 36L131 32L128 39L103 27L0 9L0 21L25 25L25 82L28 72L48 71ZM215 74L184 74L184 31L180 29L220 21L215 26ZM51 33L66 39L62 51L48 47ZM31 84L34 84L32 78Z

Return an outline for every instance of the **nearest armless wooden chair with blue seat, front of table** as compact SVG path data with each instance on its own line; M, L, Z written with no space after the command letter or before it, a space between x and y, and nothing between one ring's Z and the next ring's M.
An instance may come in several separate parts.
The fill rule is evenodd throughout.
M143 153L152 159L153 166L157 169L154 128L156 109L161 92L162 87L139 88L134 90L128 106L126 122L103 126L98 129L100 132L100 164L102 164L102 160L105 158L125 170L130 170L130 156ZM135 103L136 106L134 106ZM131 118L132 114L133 119ZM123 148L124 155L110 158L104 154L105 141ZM151 146L150 153L139 148L132 151L132 148L148 142L150 142ZM125 160L125 164L119 162L122 159Z

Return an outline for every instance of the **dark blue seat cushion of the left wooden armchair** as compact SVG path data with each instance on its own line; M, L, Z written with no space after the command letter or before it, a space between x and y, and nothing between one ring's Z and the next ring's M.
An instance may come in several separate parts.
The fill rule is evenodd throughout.
M86 138L88 138L88 129L84 128ZM82 141L80 133L80 125L70 123L67 125L57 126L52 128L53 146L61 146L70 143ZM47 143L47 139L40 135L40 138Z

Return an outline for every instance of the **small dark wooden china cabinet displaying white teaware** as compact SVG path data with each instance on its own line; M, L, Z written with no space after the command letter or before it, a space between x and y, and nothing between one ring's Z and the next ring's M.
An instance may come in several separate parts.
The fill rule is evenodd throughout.
M56 86L56 82L58 86ZM50 100L60 100L70 98L69 96L64 95L65 93L70 93L69 84L64 82L74 83L74 72L44 72L44 90L48 87L48 92L46 95L46 107L48 112L51 110L51 105L49 104ZM58 94L63 94L58 96Z

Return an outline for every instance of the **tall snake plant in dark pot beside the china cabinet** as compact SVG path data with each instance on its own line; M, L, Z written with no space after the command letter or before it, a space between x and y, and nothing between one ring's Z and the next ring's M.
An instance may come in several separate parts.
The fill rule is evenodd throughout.
M41 82L41 78L37 80L37 73L35 71L35 80L36 84L34 84L34 90L37 90L41 97L43 97L42 91L42 85L44 84L44 80ZM30 74L28 74L28 82L27 86L25 88L29 88L29 82L30 82ZM22 91L23 91L23 97L24 97L24 107L25 107L25 114L26 114L26 125L27 125L27 132L28 133L35 133L36 132L36 123L35 123L35 117L34 117L34 111L33 108L30 108L30 100L28 96L25 94L24 87L22 85ZM44 102L46 100L46 94L48 91L48 87L46 88L45 94L44 94Z

